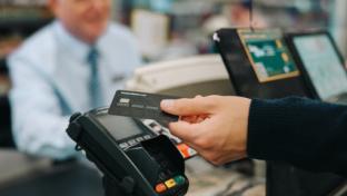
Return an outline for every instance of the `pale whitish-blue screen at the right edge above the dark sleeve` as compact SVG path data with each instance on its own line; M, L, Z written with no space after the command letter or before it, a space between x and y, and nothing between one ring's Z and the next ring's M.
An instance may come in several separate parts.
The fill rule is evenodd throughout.
M295 37L294 45L320 99L347 92L344 63L327 35Z

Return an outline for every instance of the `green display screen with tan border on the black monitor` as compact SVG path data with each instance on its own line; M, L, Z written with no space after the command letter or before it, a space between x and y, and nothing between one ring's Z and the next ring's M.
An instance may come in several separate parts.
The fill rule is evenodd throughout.
M238 33L259 82L299 75L280 30L240 29Z

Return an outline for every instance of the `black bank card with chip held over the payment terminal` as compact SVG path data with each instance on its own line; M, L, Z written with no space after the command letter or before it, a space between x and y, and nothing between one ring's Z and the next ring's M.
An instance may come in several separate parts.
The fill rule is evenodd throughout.
M179 117L162 111L160 101L162 99L177 98L174 96L117 90L109 114L139 119L155 119L167 125L171 121L177 121Z

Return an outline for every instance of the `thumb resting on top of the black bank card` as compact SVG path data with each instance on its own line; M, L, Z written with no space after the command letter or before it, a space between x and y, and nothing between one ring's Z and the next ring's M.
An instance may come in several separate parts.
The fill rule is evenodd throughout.
M177 116L206 115L211 108L208 98L198 97L194 99L165 99L160 102L160 108Z

